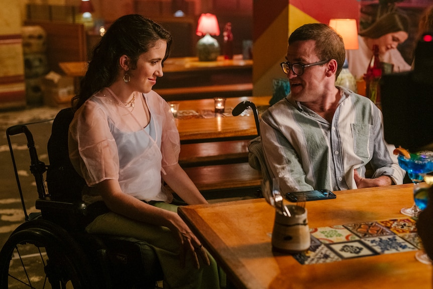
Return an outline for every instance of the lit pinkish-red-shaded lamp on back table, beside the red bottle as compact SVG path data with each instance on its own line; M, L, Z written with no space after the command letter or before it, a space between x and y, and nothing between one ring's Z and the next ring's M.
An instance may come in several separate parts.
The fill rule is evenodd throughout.
M201 14L198 19L197 30L195 34L198 36L204 35L197 42L197 56L199 61L215 61L220 55L220 44L217 39L210 35L220 35L220 27L218 25L217 16L206 13Z

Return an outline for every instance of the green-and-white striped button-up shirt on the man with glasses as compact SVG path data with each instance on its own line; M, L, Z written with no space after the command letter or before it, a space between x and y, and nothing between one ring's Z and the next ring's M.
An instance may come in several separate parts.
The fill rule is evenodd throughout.
M354 169L365 177L387 175L401 184L405 171L383 138L382 113L366 97L346 88L332 123L287 98L267 110L260 122L266 163L282 191L357 188Z

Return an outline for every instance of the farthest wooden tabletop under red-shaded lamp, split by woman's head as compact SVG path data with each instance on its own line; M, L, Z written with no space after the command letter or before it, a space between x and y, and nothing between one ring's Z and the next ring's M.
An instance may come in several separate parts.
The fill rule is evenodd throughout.
M224 59L219 56L217 61L198 61L197 57L173 57L164 62L164 73L178 73L200 70L221 70L221 69L244 69L253 66L253 60L244 60L242 55L235 55L234 59ZM77 77L84 76L87 70L87 62L72 61L60 62L60 68L67 76Z

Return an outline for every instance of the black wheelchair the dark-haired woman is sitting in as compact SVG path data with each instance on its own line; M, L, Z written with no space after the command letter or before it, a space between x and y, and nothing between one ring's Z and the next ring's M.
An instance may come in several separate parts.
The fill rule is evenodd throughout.
M64 109L54 119L53 132L55 126L60 126L62 132L55 149L67 152L67 128L72 116L70 109ZM157 281L163 279L163 273L153 249L134 238L86 233L84 228L89 217L97 210L81 201L80 191L69 199L53 197L65 194L62 191L53 194L49 185L46 188L44 175L48 179L51 157L50 165L39 160L28 126L12 126L6 134L25 222L10 235L0 251L0 288L154 289ZM27 214L24 203L10 140L10 136L18 134L25 134L27 139L30 171L38 193L37 213ZM61 175L62 168L57 169L54 177L67 180L68 175Z

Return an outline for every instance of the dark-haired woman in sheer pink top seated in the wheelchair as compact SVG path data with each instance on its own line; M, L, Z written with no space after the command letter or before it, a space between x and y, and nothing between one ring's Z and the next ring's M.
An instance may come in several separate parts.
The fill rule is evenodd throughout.
M187 204L207 203L177 162L173 115L152 90L171 42L168 31L139 15L111 25L73 99L69 156L87 183L83 200L102 200L108 208L87 232L149 243L170 288L219 288L215 261L162 186L164 181Z

